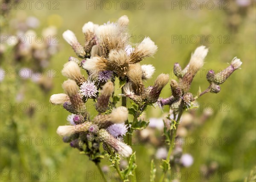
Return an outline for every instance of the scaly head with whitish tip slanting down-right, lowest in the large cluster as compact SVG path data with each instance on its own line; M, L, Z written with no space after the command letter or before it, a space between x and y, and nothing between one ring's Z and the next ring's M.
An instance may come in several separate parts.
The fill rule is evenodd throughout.
M115 139L105 129L100 129L98 132L98 138L100 141L105 142L107 145L113 147L113 149L120 155L128 157L132 154L132 149L125 143Z

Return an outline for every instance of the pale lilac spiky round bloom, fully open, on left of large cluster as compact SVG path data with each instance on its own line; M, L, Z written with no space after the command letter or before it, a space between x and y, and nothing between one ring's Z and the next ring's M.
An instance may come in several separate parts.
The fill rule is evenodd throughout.
M95 81L86 81L80 86L79 93L82 97L86 97L86 100L91 97L97 97L96 93L98 92Z

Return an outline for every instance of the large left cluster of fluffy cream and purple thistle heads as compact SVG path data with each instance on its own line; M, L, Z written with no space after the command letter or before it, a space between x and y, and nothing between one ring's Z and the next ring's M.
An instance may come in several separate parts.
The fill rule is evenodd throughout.
M57 133L71 146L83 150L89 140L104 142L122 156L130 156L132 149L123 143L127 132L125 121L128 111L125 107L111 105L116 78L124 82L122 97L130 97L137 104L157 102L161 90L169 81L167 74L160 74L153 86L145 88L143 80L154 73L152 65L141 65L146 57L152 57L157 46L149 38L132 46L128 41L128 17L120 17L116 23L96 25L84 24L82 31L85 41L82 46L75 34L67 30L64 39L72 46L78 58L70 57L62 74L69 80L62 85L65 94L54 94L52 104L62 104L72 113L68 117L71 125L59 126ZM87 78L81 73L81 68ZM90 118L85 102L91 98L99 115Z

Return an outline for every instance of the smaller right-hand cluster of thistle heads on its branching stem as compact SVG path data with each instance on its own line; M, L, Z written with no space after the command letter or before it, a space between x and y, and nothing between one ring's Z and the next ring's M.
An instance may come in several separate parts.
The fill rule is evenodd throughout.
M169 105L172 113L175 114L179 111L183 111L183 109L189 108L191 102L204 93L220 92L220 85L224 83L236 69L239 69L242 64L240 59L234 57L230 65L224 70L216 74L213 70L209 70L206 76L206 79L210 84L209 87L202 93L199 91L198 95L194 97L193 94L189 92L189 89L193 78L196 76L198 70L204 65L204 58L207 56L207 53L208 49L205 46L200 46L196 48L195 52L191 55L190 61L184 69L181 68L179 63L175 63L173 71L178 78L178 82L176 80L171 80L170 86L172 96L166 99L159 99L157 103L160 107Z

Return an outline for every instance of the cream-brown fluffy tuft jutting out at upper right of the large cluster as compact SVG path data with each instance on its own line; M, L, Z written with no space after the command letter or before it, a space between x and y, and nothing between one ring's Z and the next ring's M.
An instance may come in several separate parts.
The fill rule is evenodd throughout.
M145 57L153 56L156 52L157 46L155 43L149 37L145 37L145 39L139 43L131 53L130 63L138 63Z

